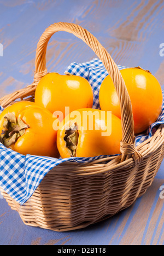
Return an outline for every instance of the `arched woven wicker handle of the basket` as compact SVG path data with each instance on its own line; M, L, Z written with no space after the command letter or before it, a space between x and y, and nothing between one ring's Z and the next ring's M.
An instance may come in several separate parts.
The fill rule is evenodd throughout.
M39 80L47 73L46 48L51 36L58 31L69 32L82 39L103 62L104 67L106 67L107 72L113 80L120 101L122 120L122 141L120 142L120 152L122 153L121 161L131 158L132 156L134 162L136 164L139 163L142 156L136 150L132 104L125 82L112 57L90 32L79 25L67 22L58 22L46 28L37 45L34 82L39 82Z

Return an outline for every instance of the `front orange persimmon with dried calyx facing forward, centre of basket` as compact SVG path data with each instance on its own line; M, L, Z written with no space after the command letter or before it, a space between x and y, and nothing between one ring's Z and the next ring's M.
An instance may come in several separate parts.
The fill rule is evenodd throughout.
M99 109L75 110L61 122L57 148L62 158L120 154L121 120Z

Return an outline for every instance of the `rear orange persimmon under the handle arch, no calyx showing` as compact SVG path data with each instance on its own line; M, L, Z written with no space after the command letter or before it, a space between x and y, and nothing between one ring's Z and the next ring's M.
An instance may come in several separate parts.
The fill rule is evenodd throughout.
M51 113L62 112L65 118L65 107L69 107L69 112L79 108L92 108L93 91L90 83L83 77L69 73L48 73L37 85L35 103Z

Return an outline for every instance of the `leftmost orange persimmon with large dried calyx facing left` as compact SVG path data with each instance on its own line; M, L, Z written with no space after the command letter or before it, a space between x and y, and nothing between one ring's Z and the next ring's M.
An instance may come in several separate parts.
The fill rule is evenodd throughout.
M0 115L1 143L22 155L58 158L56 120L49 110L33 102L17 102Z

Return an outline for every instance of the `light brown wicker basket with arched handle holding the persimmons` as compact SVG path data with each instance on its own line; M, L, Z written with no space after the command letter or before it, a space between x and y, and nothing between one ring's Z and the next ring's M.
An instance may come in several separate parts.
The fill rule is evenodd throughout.
M78 25L63 22L51 25L40 37L34 82L1 98L0 104L4 108L18 100L34 100L36 86L47 73L46 47L57 31L73 33L82 39L112 77L121 106L121 155L89 164L66 162L56 166L22 206L4 191L1 193L26 225L68 231L109 218L131 206L137 197L145 193L163 160L164 130L162 125L159 126L153 137L136 148L131 101L118 66L91 33Z

